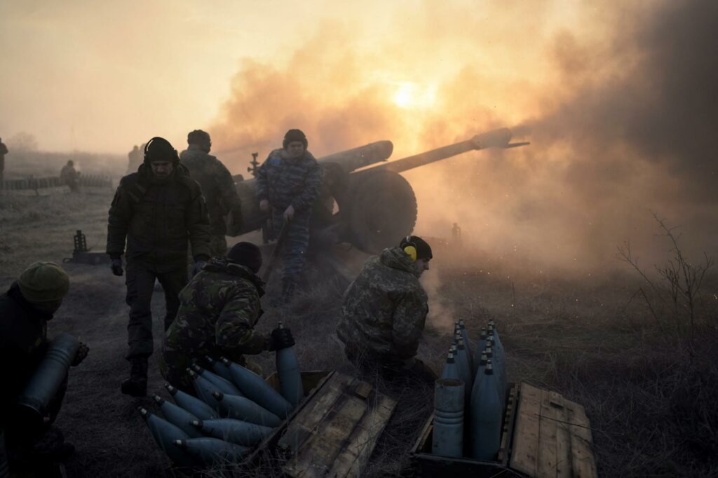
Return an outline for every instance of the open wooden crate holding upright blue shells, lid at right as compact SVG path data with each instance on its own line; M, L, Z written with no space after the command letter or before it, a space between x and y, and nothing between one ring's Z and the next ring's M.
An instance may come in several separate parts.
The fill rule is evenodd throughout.
M583 406L528 383L510 388L496 461L434 455L433 431L432 416L412 453L416 474L422 478L597 476L591 425Z

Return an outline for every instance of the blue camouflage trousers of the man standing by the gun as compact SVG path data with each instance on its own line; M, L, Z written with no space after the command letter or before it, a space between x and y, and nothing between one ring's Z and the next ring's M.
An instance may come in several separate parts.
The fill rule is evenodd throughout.
M279 237L284 226L284 211L272 210L272 227L275 237ZM304 264L307 262L307 249L309 248L309 219L311 211L297 212L294 219L289 221L284 243L281 245L281 260L284 263L282 282L297 283L304 273Z

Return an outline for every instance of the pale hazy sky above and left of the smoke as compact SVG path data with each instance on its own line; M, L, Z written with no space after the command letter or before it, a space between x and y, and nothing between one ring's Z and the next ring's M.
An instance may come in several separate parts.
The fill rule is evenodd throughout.
M442 41L457 33L456 40L462 38L452 31L447 11L457 14L460 28L467 26L460 17L470 14L472 28L495 32L497 26L523 24L539 37L560 22L574 21L570 3L541 1L538 8L523 8L524 3L3 1L0 136L24 131L36 137L40 149L107 152L126 151L154 135L181 141L186 131L215 121L230 95L230 78L243 62L284 67L327 24L332 34L325 41L336 42L339 33L345 43L340 47L348 53L386 50L383 70L365 72L365 80L389 85L387 94L406 102L410 95L434 94L422 80L436 81L464 67L465 61L454 61L457 57L510 51L500 55L503 60L495 57L498 63L487 62L488 73L505 68L503 61L537 62L540 42L516 37L513 27L493 45L490 39ZM434 11L443 12L436 24ZM525 71L517 68L516 77Z

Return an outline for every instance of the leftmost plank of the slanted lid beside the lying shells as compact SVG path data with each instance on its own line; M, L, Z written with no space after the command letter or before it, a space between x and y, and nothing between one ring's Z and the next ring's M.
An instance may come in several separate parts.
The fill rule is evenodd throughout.
M330 413L300 446L297 455L282 468L284 472L295 478L326 477L366 411L365 400L342 393Z

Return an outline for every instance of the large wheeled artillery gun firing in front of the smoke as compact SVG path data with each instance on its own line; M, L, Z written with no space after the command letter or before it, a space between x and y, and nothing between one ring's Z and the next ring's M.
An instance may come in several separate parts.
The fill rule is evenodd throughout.
M528 144L510 140L508 128L500 128L396 161L386 162L393 151L391 141L377 141L317 159L324 179L312 215L312 241L351 243L366 253L378 253L394 245L398 238L414 230L417 213L414 189L399 173L467 151ZM369 167L377 163L382 164ZM259 210L256 179L242 180L241 175L234 178L244 223L240 230L231 224L228 230L237 236L263 228L268 215Z

